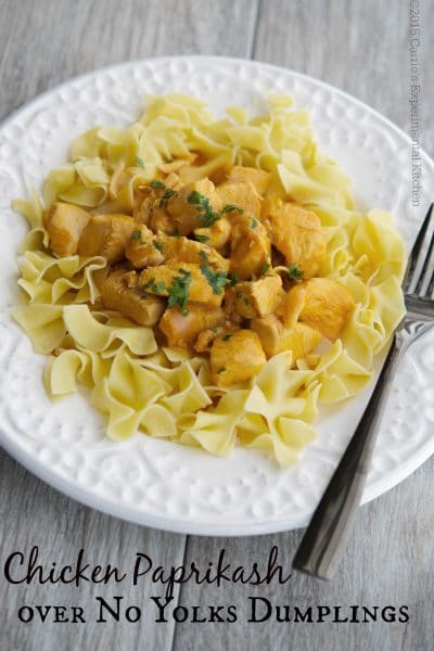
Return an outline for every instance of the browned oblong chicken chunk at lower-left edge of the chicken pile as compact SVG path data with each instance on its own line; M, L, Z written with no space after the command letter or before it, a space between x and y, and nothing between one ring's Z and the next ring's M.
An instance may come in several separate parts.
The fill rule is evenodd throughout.
M107 276L101 288L104 307L119 311L140 326L154 326L164 312L166 302L159 296L130 288L130 275L119 270Z

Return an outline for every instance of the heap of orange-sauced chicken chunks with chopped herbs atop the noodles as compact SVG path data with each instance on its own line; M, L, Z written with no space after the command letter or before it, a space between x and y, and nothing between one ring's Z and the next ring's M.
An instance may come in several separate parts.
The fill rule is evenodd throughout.
M273 193L264 170L235 165L183 183L177 165L166 167L135 188L130 215L62 201L46 214L56 256L107 260L103 307L153 327L162 345L207 356L220 387L248 381L278 353L295 363L323 337L334 342L355 302L320 276L317 214Z

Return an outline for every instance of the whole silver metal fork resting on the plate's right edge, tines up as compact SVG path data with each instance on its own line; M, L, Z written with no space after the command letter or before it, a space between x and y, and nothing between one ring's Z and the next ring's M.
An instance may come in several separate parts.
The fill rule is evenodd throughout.
M360 503L392 378L407 348L434 326L434 204L411 250L403 281L407 312L397 327L372 396L319 502L293 560L293 567L331 578ZM426 241L430 243L426 248Z

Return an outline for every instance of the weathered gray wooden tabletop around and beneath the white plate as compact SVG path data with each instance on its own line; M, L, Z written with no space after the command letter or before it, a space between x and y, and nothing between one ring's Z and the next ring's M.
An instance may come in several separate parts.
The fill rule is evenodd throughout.
M434 153L433 51L422 9L422 144ZM335 85L409 130L409 2L378 0L1 0L0 117L71 77L112 63L163 54L225 54L256 59L307 73ZM431 42L430 42L431 39ZM431 46L431 50L430 50ZM59 651L151 649L209 650L430 650L434 649L433 460L359 511L354 536L332 583L294 574L285 586L231 585L175 590L183 605L235 604L248 596L275 604L403 605L399 623L20 623L25 604L80 604L95 595L122 595L145 604L149 585L103 590L87 584L24 587L0 579L0 649ZM156 564L208 561L226 548L234 565L264 560L279 547L285 567L302 531L252 538L204 538L163 533L103 515L67 499L0 451L0 560L38 545L46 561L87 560L122 565L137 551ZM157 592L158 593L158 592Z

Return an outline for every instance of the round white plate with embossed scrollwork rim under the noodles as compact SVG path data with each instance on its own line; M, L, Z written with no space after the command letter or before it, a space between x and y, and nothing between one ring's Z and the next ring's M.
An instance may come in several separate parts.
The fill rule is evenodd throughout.
M369 398L322 409L319 438L297 465L279 470L260 452L238 448L229 459L137 435L104 437L104 423L77 395L51 404L44 358L16 328L16 245L23 220L12 197L39 188L65 161L72 139L95 124L126 125L145 93L182 91L217 113L242 104L264 111L267 91L291 93L306 106L317 139L353 177L360 207L391 209L410 241L434 197L434 165L423 155L421 207L410 206L410 141L384 117L349 95L291 71L242 60L169 58L91 73L49 91L0 129L0 429L4 448L31 472L95 509L176 532L259 534L307 523ZM434 451L434 340L408 353L387 404L363 502L381 495ZM431 431L430 431L431 430Z

